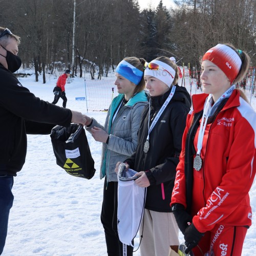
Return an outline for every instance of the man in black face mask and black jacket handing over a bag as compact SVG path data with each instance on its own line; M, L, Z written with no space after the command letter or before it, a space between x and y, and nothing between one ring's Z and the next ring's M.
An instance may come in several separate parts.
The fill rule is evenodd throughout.
M19 37L0 27L0 254L13 204L13 176L25 163L26 134L49 134L56 124L86 123L81 113L40 100L20 84L12 74L22 64L18 45Z

